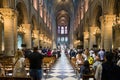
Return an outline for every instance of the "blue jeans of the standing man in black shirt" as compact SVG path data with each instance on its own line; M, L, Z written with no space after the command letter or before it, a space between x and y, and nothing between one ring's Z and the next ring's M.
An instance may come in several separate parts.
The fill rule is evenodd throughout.
M42 69L30 69L30 76L33 78L33 80L41 80Z

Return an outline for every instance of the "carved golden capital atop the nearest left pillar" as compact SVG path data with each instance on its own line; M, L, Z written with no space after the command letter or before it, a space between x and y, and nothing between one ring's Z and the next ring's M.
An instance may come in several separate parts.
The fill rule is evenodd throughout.
M0 8L0 13L2 14L4 19L13 19L14 18L14 10L9 8Z

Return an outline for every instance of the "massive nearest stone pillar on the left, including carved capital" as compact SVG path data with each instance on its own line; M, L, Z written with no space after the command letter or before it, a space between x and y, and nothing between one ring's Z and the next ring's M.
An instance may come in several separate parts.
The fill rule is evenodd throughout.
M9 8L2 8L0 12L4 18L4 46L7 56L14 55L14 11Z

